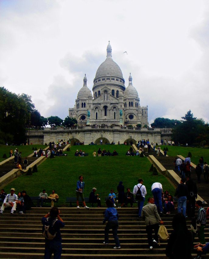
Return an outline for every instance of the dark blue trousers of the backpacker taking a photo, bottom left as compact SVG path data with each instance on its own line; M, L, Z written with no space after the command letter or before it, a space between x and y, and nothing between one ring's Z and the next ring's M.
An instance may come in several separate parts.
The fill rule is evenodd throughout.
M54 253L54 259L60 259L62 253L61 241L45 240L44 259L50 259Z

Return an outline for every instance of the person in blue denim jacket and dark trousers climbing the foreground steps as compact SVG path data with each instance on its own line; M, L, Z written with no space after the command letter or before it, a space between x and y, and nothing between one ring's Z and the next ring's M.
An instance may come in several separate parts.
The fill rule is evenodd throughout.
M115 247L113 249L120 249L120 241L117 236L117 229L118 229L118 213L115 208L113 208L113 203L111 200L106 200L107 209L105 210L103 224L107 221L105 227L105 240L103 244L108 245L109 243L109 230L113 230L113 237L115 239Z

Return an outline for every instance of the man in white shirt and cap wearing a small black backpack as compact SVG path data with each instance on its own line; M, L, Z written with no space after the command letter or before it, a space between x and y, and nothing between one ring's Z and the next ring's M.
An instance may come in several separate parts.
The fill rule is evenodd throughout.
M138 184L134 186L133 194L138 201L139 218L141 218L141 211L144 206L145 196L147 194L146 187L143 185L144 180L138 179Z

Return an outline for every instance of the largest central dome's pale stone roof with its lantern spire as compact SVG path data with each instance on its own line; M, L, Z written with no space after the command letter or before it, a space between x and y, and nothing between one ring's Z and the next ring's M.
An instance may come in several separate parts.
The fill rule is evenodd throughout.
M115 76L123 79L122 71L118 64L113 61L111 53L112 48L109 43L107 45L107 58L97 69L95 79L103 76Z

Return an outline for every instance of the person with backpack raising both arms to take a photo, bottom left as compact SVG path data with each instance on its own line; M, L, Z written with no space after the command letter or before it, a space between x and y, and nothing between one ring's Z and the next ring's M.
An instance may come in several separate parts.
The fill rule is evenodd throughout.
M60 228L64 228L64 222L60 217L58 208L51 208L41 220L42 233L45 237L44 259L50 259L54 253L54 259L60 259L62 253L62 238Z

